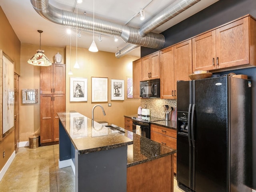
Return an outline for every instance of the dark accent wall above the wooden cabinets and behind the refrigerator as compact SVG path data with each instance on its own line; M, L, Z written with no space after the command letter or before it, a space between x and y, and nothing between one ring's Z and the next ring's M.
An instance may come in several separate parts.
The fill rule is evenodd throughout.
M250 14L256 18L256 0L219 0L208 8L205 8L190 18L187 18L162 32L166 39L164 48L235 20L246 14ZM141 57L153 52L156 52L156 50L142 47ZM222 72L222 74L228 74L230 72L246 74L248 75L248 78L252 80L252 181L253 188L256 190L256 67ZM218 154L216 154L216 160L218 160Z

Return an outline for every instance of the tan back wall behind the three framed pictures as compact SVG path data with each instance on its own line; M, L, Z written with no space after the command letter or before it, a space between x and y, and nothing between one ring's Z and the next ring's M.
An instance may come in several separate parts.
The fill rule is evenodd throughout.
M88 49L78 48L78 63L80 69L72 68L73 75L68 75L70 70L70 46L66 47L66 110L76 110L88 118L92 118L92 108L96 104L101 104L106 112L103 115L100 107L94 110L94 119L96 121L107 121L117 126L124 127L124 115L137 114L140 99L127 98L127 77L132 77L132 61L138 59L134 56L123 56L116 58L114 53L110 52L89 52ZM74 56L71 58L71 66L76 62L76 48L71 47ZM87 102L70 102L70 77L87 78L88 81L88 100ZM108 102L94 103L91 99L91 77L108 78ZM111 101L111 79L124 80L124 101ZM111 103L111 107L108 106Z

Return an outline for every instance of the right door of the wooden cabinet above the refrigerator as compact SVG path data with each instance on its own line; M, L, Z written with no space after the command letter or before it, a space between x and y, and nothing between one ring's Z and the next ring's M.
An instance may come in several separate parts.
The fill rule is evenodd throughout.
M249 63L249 18L216 29L218 68Z

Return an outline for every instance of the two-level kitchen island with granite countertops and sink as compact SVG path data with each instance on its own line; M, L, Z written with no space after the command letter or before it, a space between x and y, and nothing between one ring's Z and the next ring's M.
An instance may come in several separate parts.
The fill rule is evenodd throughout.
M72 166L76 191L173 191L176 150L74 111L58 116L59 167Z

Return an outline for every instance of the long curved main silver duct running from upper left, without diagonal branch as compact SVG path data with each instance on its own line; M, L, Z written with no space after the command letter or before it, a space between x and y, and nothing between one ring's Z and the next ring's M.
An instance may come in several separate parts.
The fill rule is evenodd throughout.
M78 29L92 32L94 23L95 32L120 36L126 43L154 49L160 49L164 46L164 36L162 34L149 32L146 36L142 37L139 34L139 29L95 18L93 22L92 17L84 14L78 14L77 18L76 13L60 10L50 5L48 0L30 0L30 2L40 16L56 24L73 28L78 25Z

